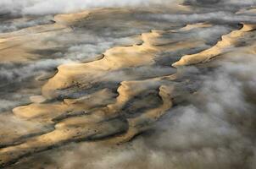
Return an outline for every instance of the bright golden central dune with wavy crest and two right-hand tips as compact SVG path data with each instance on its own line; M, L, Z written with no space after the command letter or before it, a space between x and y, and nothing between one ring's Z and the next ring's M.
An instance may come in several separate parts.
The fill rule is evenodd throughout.
M209 25L204 25L208 27ZM189 31L203 25L194 25L181 28L181 32ZM182 49L195 48L205 45L201 40L187 40L172 43L172 40L158 41L165 33L172 31L152 30L141 35L142 45L116 46L103 53L103 59L91 63L72 63L58 67L58 73L42 87L42 95L47 99L58 97L58 90L64 90L73 85L88 85L99 80L108 72L123 68L136 68L144 65L153 65L159 52L175 52Z

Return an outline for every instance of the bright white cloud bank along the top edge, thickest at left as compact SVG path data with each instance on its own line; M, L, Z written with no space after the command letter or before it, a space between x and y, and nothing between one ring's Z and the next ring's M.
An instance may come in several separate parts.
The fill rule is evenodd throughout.
M168 0L174 2L174 0ZM147 6L166 3L164 0L2 0L0 9L21 14L57 14L70 13L88 8L115 8Z

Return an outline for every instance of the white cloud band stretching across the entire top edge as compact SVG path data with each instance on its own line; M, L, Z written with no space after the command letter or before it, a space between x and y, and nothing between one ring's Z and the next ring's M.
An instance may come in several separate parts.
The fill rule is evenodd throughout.
M0 14L59 14L89 8L147 7L170 3L220 4L230 6L252 6L254 0L1 0ZM228 6L227 6L228 7Z

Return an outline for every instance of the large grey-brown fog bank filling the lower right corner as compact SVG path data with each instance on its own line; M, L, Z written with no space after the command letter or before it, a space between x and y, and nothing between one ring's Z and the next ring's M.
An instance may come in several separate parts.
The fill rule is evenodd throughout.
M248 97L256 95L256 59L240 53L227 57L216 61L214 71L199 75L199 90L186 95L186 105L172 108L152 131L121 146L81 143L61 148L54 154L54 165L78 169L253 169L256 101L248 101ZM201 69L185 71L193 77ZM197 85L193 79L191 83Z

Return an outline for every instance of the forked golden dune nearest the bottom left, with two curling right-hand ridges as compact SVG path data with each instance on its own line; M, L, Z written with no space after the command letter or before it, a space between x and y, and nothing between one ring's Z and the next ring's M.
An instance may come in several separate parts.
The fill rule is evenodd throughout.
M150 79L123 82L118 89L120 95L112 104L102 108L92 109L93 106L98 107L98 104L103 104L106 99L109 101L109 98L104 98L106 95L103 95L106 92L108 93L108 90L100 91L103 93L96 93L95 96L89 96L92 105L90 105L90 101L86 101L88 98L81 98L76 101L64 101L67 102L64 105L30 105L14 109L15 115L18 117L30 118L31 120L36 118L41 123L47 123L46 119L50 119L56 123L55 129L50 133L27 139L23 144L9 146L0 150L1 163L8 164L8 162L17 160L23 155L47 150L50 147L72 140L102 139L116 134L118 135L105 139L104 142L113 144L113 142L120 143L130 140L136 134L148 128L150 123L163 116L164 112L172 106L171 95L174 89L169 86L160 85L159 80L161 81L161 79ZM166 81L164 83L170 82ZM142 114L136 117L128 117L127 119L121 117L120 112L122 108L134 96L139 95L145 90L157 91L158 89L162 100L159 106L145 112L140 112ZM97 98L99 95L103 95L103 97ZM109 97L112 96L113 94L109 93ZM85 101L84 104L81 104L83 101ZM72 107L81 109L80 111L86 111L87 109L92 111L75 114L79 110L71 110ZM65 112L70 113L64 114Z

